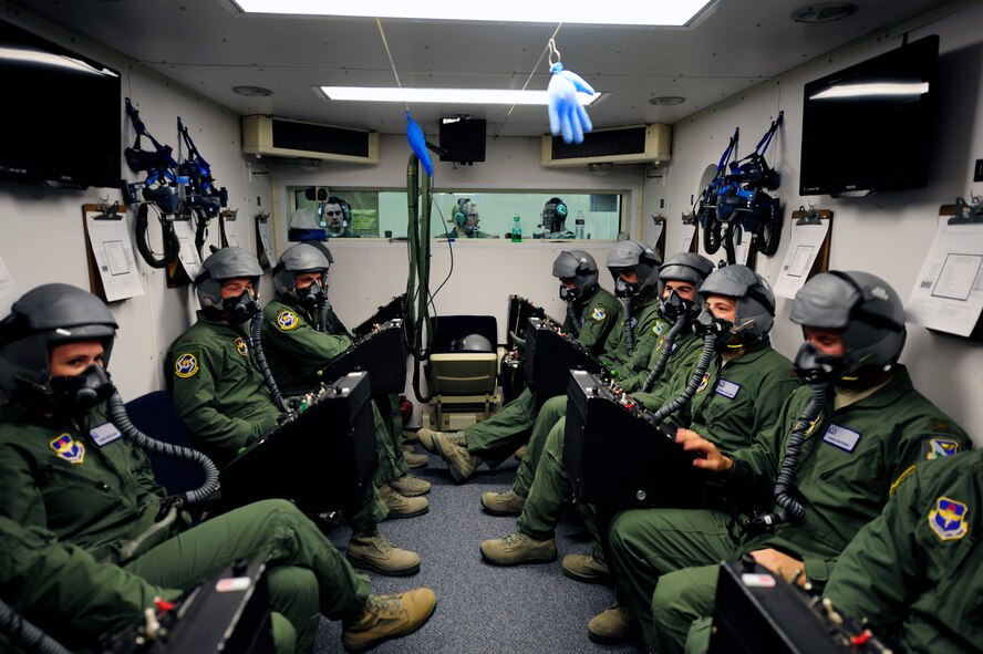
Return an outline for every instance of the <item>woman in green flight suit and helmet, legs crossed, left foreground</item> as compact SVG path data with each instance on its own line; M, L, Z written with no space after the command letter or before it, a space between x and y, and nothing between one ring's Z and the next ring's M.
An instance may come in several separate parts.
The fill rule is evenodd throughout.
M232 313L234 303L248 300L242 291L251 277L230 278L238 281L224 289ZM66 646L93 647L99 635L153 610L155 596L175 599L246 560L267 565L279 652L309 652L322 614L343 621L342 642L355 651L428 619L432 590L370 594L369 578L289 501L265 500L193 525L155 481L144 451L107 417L108 405L122 403L106 372L116 329L102 300L60 283L28 291L0 322L4 602ZM235 339L245 343L229 334L231 359L218 356L200 374L225 364L237 370L248 350ZM251 419L265 415L256 404Z

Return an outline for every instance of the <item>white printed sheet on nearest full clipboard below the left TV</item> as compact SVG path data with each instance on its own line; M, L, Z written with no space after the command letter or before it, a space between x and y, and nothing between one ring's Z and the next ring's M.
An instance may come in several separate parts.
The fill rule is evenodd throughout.
M126 298L143 295L136 258L130 242L126 220L120 218L101 218L101 211L85 212L85 227L89 242L92 243L92 256L95 258L99 277L103 282L106 302L116 302Z

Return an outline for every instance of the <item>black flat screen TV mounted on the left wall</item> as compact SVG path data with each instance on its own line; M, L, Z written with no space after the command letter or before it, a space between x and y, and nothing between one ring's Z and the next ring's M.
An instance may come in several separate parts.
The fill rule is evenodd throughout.
M0 177L116 187L123 158L120 74L0 20Z

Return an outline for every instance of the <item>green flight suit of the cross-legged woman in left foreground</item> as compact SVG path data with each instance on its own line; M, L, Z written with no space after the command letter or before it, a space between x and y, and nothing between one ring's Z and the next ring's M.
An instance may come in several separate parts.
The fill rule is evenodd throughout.
M0 408L0 516L149 585L186 591L237 559L267 563L270 606L296 629L298 651L312 646L321 613L350 619L368 599L368 578L288 501L248 505L196 527L173 511L155 521L164 489L103 406L76 421ZM130 601L142 602L148 589L130 583ZM75 602L49 599L60 611Z

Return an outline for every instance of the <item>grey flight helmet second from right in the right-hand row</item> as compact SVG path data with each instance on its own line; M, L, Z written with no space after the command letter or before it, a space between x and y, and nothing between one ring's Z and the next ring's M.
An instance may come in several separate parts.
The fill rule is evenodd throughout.
M747 266L720 268L700 288L701 300L707 295L733 298L736 305L733 333L741 343L763 341L775 323L775 293L760 274Z

